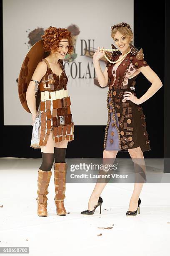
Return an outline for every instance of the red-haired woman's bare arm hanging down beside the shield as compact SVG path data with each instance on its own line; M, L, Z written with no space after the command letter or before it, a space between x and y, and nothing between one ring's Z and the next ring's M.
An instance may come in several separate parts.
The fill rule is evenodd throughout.
M39 62L34 71L34 74L32 75L32 79L40 82L42 77L45 75L46 71L47 71L47 64L45 63L45 61ZM37 115L34 81L30 81L28 85L27 92L26 92L26 100L27 100L28 108L30 109L30 112L32 114L32 120L34 123Z

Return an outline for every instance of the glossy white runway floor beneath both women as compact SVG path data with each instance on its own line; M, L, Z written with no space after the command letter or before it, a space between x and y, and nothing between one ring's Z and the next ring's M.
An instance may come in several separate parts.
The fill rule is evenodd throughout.
M40 164L41 159L0 159L0 247L29 247L30 256L169 255L170 184L144 184L140 215L133 217L125 216L133 184L107 184L101 215L97 207L89 216L80 212L87 210L95 184L66 184L70 214L58 216L52 169L48 216L40 218L35 200ZM107 227L112 228L100 229Z

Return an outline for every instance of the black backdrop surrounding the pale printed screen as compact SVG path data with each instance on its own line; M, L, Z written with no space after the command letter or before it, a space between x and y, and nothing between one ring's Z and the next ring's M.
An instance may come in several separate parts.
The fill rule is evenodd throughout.
M147 132L150 139L150 151L144 152L145 158L162 158L166 153L169 155L168 145L169 136L165 115L168 112L168 95L169 88L166 88L165 80L168 81L168 58L165 56L165 23L168 22L168 9L165 19L165 9L168 3L162 0L160 4L155 4L155 1L134 1L134 45L137 49L143 48L145 60L150 67L158 74L163 87L142 104L143 112L146 115ZM1 15L2 19L2 2ZM124 20L121 17L120 22ZM2 23L1 23L2 24ZM114 25L114 24L113 24ZM108 28L109 29L109 28ZM168 28L166 29L168 36ZM1 33L2 35L2 33ZM2 38L1 38L2 43ZM2 44L1 44L2 45ZM1 47L0 65L3 70L3 52ZM168 51L167 51L168 54ZM165 73L165 70L167 72ZM1 72L1 81L3 73ZM137 79L136 92L140 97L148 90L150 82L140 74ZM17 90L17 87L16 87ZM164 104L164 90L165 104ZM170 95L170 94L169 94ZM18 98L19 100L19 98ZM167 101L166 101L167 100ZM3 87L1 84L0 93L0 137L1 150L0 157L26 157L38 158L41 157L40 149L30 148L30 138L32 134L32 125L3 125ZM164 129L165 127L165 129ZM170 126L169 126L170 127ZM165 131L164 131L165 130ZM102 157L102 143L104 139L105 126L103 125L75 125L75 140L68 143L67 158L99 158ZM164 140L165 132L165 140ZM167 136L167 138L166 138ZM165 141L165 143L164 143ZM118 152L117 157L130 157L127 152Z

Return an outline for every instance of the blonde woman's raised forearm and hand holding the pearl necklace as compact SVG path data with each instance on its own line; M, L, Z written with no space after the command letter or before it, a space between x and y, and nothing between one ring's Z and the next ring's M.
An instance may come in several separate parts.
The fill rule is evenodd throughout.
M103 48L103 47L102 47ZM108 83L108 73L107 73L107 67L105 68L105 71L102 72L102 69L99 64L99 60L104 56L104 51L100 51L100 47L95 51L95 54L93 55L93 64L95 67L95 73L97 75L97 80L101 87L107 86Z

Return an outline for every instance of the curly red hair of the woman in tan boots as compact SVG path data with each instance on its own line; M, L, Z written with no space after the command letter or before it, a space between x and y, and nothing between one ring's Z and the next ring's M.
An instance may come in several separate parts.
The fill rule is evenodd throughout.
M62 38L67 38L69 44L67 53L72 54L73 45L70 34L71 32L66 28L55 28L50 26L50 28L45 29L44 35L41 36L44 39L44 49L46 51L57 51L60 40Z

